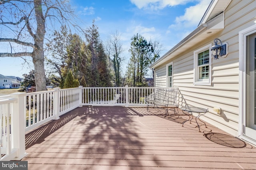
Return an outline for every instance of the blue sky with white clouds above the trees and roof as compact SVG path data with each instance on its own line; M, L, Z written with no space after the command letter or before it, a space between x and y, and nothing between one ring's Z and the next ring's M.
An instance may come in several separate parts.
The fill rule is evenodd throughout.
M98 26L100 38L107 41L110 35L120 33L124 49L122 73L130 58L128 52L131 38L137 33L147 41L158 41L164 55L200 22L211 0L70 0L70 5L79 18L80 27L86 29L92 21ZM0 47L0 52L5 49ZM19 76L33 69L30 57L24 59L0 58L0 74Z

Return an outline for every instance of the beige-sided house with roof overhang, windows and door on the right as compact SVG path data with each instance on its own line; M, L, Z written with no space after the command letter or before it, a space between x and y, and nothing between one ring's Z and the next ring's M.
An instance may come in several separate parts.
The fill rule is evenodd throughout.
M216 38L227 54L215 60ZM199 26L150 68L156 87L179 88L179 107L208 108L204 121L256 145L255 0L212 0Z

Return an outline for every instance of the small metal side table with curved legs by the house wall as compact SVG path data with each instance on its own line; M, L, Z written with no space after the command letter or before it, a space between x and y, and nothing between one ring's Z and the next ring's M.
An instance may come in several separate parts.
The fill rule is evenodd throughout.
M192 115L192 119L193 119L193 114L192 113L198 113L198 116L196 116L196 123L197 123L197 126L198 126L198 129L199 129L199 132L200 131L200 126L198 125L198 122L197 122L197 119L200 120L200 116L204 115L206 112L208 112L208 109L204 109L204 108L201 108L201 107L181 107L183 113L184 111L190 113L190 115ZM186 114L186 113L185 113ZM191 123L191 120L190 119L190 116L189 116L189 119L186 120L186 121L189 121L190 120L190 123ZM182 123L182 126L184 125L184 123L186 122L184 121ZM204 123L202 120L200 120L202 123ZM205 127L206 127L206 124L204 123ZM207 128L207 127L206 127Z

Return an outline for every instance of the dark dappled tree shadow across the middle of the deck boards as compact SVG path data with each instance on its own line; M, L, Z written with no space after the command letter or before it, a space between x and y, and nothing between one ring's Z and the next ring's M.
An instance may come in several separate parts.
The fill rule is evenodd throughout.
M90 154L86 170L94 165L134 167L145 166L145 160L157 158L144 153L144 139L134 116L143 116L134 109L125 107L84 107L85 114L78 124L84 126L81 145L84 153ZM158 165L160 166L160 165Z

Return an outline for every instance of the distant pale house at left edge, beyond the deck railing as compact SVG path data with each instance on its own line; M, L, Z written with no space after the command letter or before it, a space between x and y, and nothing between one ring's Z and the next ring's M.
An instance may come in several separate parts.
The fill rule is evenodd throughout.
M21 83L15 76L4 76L0 74L0 89L3 88L20 88Z

